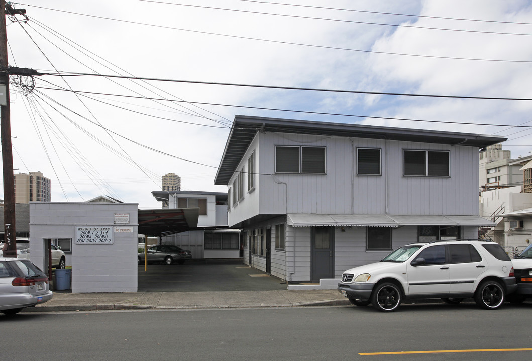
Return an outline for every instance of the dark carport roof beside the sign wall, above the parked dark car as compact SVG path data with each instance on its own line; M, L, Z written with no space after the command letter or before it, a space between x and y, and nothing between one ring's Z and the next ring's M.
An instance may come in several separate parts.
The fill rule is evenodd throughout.
M165 236L184 232L198 225L199 208L139 209L138 233Z

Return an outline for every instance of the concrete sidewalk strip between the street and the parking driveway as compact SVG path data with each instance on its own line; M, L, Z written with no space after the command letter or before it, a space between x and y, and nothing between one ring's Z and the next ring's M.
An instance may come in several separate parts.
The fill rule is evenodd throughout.
M72 294L54 291L54 297L22 312L98 310L176 310L235 307L294 307L350 305L338 291L274 290L216 292L138 292Z

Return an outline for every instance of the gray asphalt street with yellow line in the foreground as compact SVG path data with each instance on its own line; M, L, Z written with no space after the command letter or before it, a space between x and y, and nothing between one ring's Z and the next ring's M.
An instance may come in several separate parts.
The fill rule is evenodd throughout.
M532 356L530 307L22 313L0 317L2 359L521 361Z

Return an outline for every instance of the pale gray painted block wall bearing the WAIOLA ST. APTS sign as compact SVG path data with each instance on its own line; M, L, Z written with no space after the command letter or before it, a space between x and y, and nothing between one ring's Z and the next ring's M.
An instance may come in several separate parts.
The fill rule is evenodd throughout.
M114 213L129 213L114 224ZM113 227L113 244L76 244L76 226ZM130 226L132 232L114 232ZM72 293L137 291L137 203L30 203L30 260L44 266L45 238L72 238Z

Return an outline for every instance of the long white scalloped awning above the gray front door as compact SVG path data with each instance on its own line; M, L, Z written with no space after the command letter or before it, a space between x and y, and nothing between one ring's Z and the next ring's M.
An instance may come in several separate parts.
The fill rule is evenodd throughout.
M405 216L403 214L288 214L288 225L399 227L399 226L495 226L480 216Z

